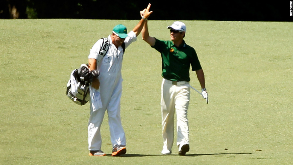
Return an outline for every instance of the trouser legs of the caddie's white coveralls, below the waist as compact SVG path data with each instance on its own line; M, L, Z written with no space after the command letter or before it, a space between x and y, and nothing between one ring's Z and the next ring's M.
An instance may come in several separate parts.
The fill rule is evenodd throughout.
M122 78L110 77L108 81L100 80L100 96L103 107L93 111L90 107L90 118L88 121L88 149L100 150L102 137L100 128L105 112L108 113L112 146L115 144L126 145L126 137L121 124L120 98L122 94ZM90 104L91 105L91 104Z

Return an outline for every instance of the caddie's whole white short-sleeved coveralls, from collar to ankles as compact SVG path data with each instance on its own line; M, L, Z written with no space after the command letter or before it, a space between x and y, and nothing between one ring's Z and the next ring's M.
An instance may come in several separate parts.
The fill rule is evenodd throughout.
M88 149L100 150L102 139L100 127L103 122L105 111L108 113L109 129L112 146L115 144L126 145L125 133L120 118L120 98L122 94L122 76L121 67L123 59L123 48L118 49L112 43L111 35L109 39L109 50L103 59L98 62L97 69L100 71L100 88L95 90L91 88L91 97L95 95L95 101L90 100L90 118L88 121ZM136 34L133 31L128 33L125 38L125 47L136 41ZM98 59L98 54L102 46L103 39L99 39L90 50L88 58ZM92 102L99 102L94 106Z

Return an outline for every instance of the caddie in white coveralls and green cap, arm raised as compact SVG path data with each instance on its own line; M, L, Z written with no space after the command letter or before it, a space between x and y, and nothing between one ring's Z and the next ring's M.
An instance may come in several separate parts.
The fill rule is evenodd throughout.
M108 36L109 49L105 56L99 55L103 39L99 39L90 50L88 62L90 70L97 69L100 72L98 79L93 80L90 86L90 118L88 122L88 149L91 156L106 155L101 150L100 127L107 110L111 142L113 146L112 156L126 153L126 137L120 119L120 98L122 94L121 67L123 61L123 48L127 48L141 32L144 22L152 13L149 6L141 14L140 22L127 34L124 25L116 25L112 34Z

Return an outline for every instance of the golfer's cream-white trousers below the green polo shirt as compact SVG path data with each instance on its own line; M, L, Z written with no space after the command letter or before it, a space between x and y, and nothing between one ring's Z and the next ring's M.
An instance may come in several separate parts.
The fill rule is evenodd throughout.
M177 146L189 144L187 109L190 100L189 82L163 79L161 86L161 113L163 127L163 149L171 151L174 141L174 114L177 116Z

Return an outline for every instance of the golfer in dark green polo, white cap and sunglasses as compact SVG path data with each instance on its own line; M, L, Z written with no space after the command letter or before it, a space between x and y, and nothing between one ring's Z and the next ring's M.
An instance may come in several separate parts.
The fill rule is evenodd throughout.
M177 115L177 146L178 154L185 155L189 151L189 128L187 109L190 100L190 65L196 71L206 99L205 76L196 51L184 41L186 26L176 21L167 27L170 29L171 41L163 41L149 36L147 21L141 31L144 41L161 53L162 57L162 87L161 112L163 126L162 154L171 154L174 140L174 114Z

